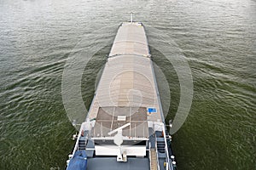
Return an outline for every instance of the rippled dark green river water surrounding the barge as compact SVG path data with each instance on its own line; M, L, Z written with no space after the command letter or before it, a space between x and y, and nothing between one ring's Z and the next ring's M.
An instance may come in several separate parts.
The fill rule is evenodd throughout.
M65 167L75 133L61 99L66 60L83 35L109 26L108 32L93 35L95 41L114 37L130 11L146 26L154 62L170 82L167 119L177 111L179 83L172 65L155 50L154 38L160 38L155 34L168 35L161 41L175 42L192 71L191 111L173 136L179 169L255 169L253 0L0 1L0 169ZM111 43L84 71L87 107Z

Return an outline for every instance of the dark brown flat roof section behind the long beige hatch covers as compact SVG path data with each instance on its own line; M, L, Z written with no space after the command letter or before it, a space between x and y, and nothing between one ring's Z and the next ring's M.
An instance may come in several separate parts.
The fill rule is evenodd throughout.
M119 116L125 120L119 121ZM123 136L148 138L148 120L146 107L101 107L96 116L93 137L108 137L112 130L131 122L131 126L123 129Z

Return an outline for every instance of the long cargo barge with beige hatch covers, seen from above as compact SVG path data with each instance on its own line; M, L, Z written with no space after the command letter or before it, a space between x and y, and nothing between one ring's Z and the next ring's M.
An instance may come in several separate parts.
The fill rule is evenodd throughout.
M119 26L67 170L175 170L144 26Z

